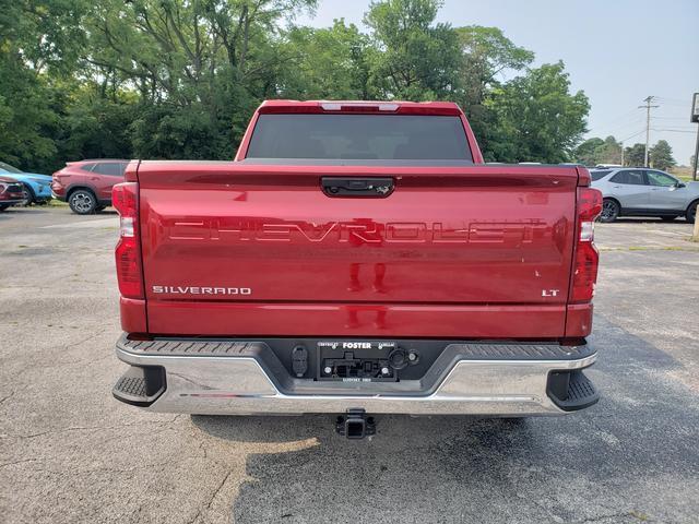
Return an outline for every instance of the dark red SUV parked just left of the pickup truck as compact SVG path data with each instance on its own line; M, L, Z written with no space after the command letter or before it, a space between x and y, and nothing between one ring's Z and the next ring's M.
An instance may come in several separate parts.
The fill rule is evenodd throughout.
M129 160L96 159L69 162L54 174L54 196L68 202L79 215L90 215L111 205L111 188L123 182Z

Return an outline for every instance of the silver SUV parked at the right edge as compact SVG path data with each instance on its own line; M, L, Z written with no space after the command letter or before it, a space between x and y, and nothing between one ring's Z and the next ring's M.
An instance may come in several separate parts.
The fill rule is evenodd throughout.
M659 216L694 223L699 203L699 182L683 182L672 175L642 167L592 169L592 187L602 191L600 222L617 216Z

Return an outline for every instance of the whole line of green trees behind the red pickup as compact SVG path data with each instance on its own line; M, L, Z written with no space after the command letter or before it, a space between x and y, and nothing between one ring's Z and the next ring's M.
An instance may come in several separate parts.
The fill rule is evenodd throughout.
M0 0L0 159L232 158L265 98L449 99L486 158L561 162L585 127L562 63L496 27L382 0L368 33L294 25L316 0ZM505 80L506 76L514 76Z

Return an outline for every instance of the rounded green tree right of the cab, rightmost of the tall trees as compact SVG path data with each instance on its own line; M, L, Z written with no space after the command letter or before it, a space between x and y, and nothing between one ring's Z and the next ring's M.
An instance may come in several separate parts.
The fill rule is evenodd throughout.
M588 97L569 92L564 63L544 64L494 90L491 150L500 162L567 162L585 131Z

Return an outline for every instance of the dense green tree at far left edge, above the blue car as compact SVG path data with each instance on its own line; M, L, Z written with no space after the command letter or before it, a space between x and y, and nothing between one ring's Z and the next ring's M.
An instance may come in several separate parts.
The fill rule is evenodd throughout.
M0 155L31 170L56 165L61 90L84 45L82 0L0 0Z

